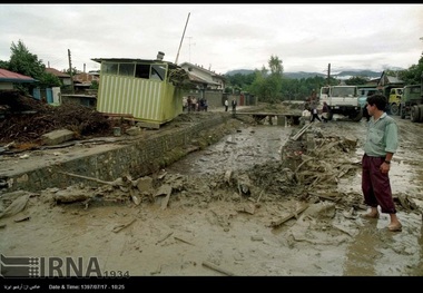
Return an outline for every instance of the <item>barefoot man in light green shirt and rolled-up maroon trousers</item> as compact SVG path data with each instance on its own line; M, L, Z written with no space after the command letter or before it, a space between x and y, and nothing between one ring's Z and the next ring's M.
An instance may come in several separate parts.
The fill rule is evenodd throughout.
M377 206L382 213L390 214L387 229L402 231L396 217L392 198L388 172L391 160L399 146L397 125L384 111L387 100L380 94L367 97L367 111L372 117L367 125L367 135L362 158L362 191L364 203L371 207L363 217L378 218Z

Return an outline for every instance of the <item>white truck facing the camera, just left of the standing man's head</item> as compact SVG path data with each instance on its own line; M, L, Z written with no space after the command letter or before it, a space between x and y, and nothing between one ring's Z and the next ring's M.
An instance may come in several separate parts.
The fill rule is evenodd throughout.
M328 106L328 120L332 120L334 114L346 116L353 121L360 121L363 118L356 86L322 87L319 104L323 105L324 101Z

